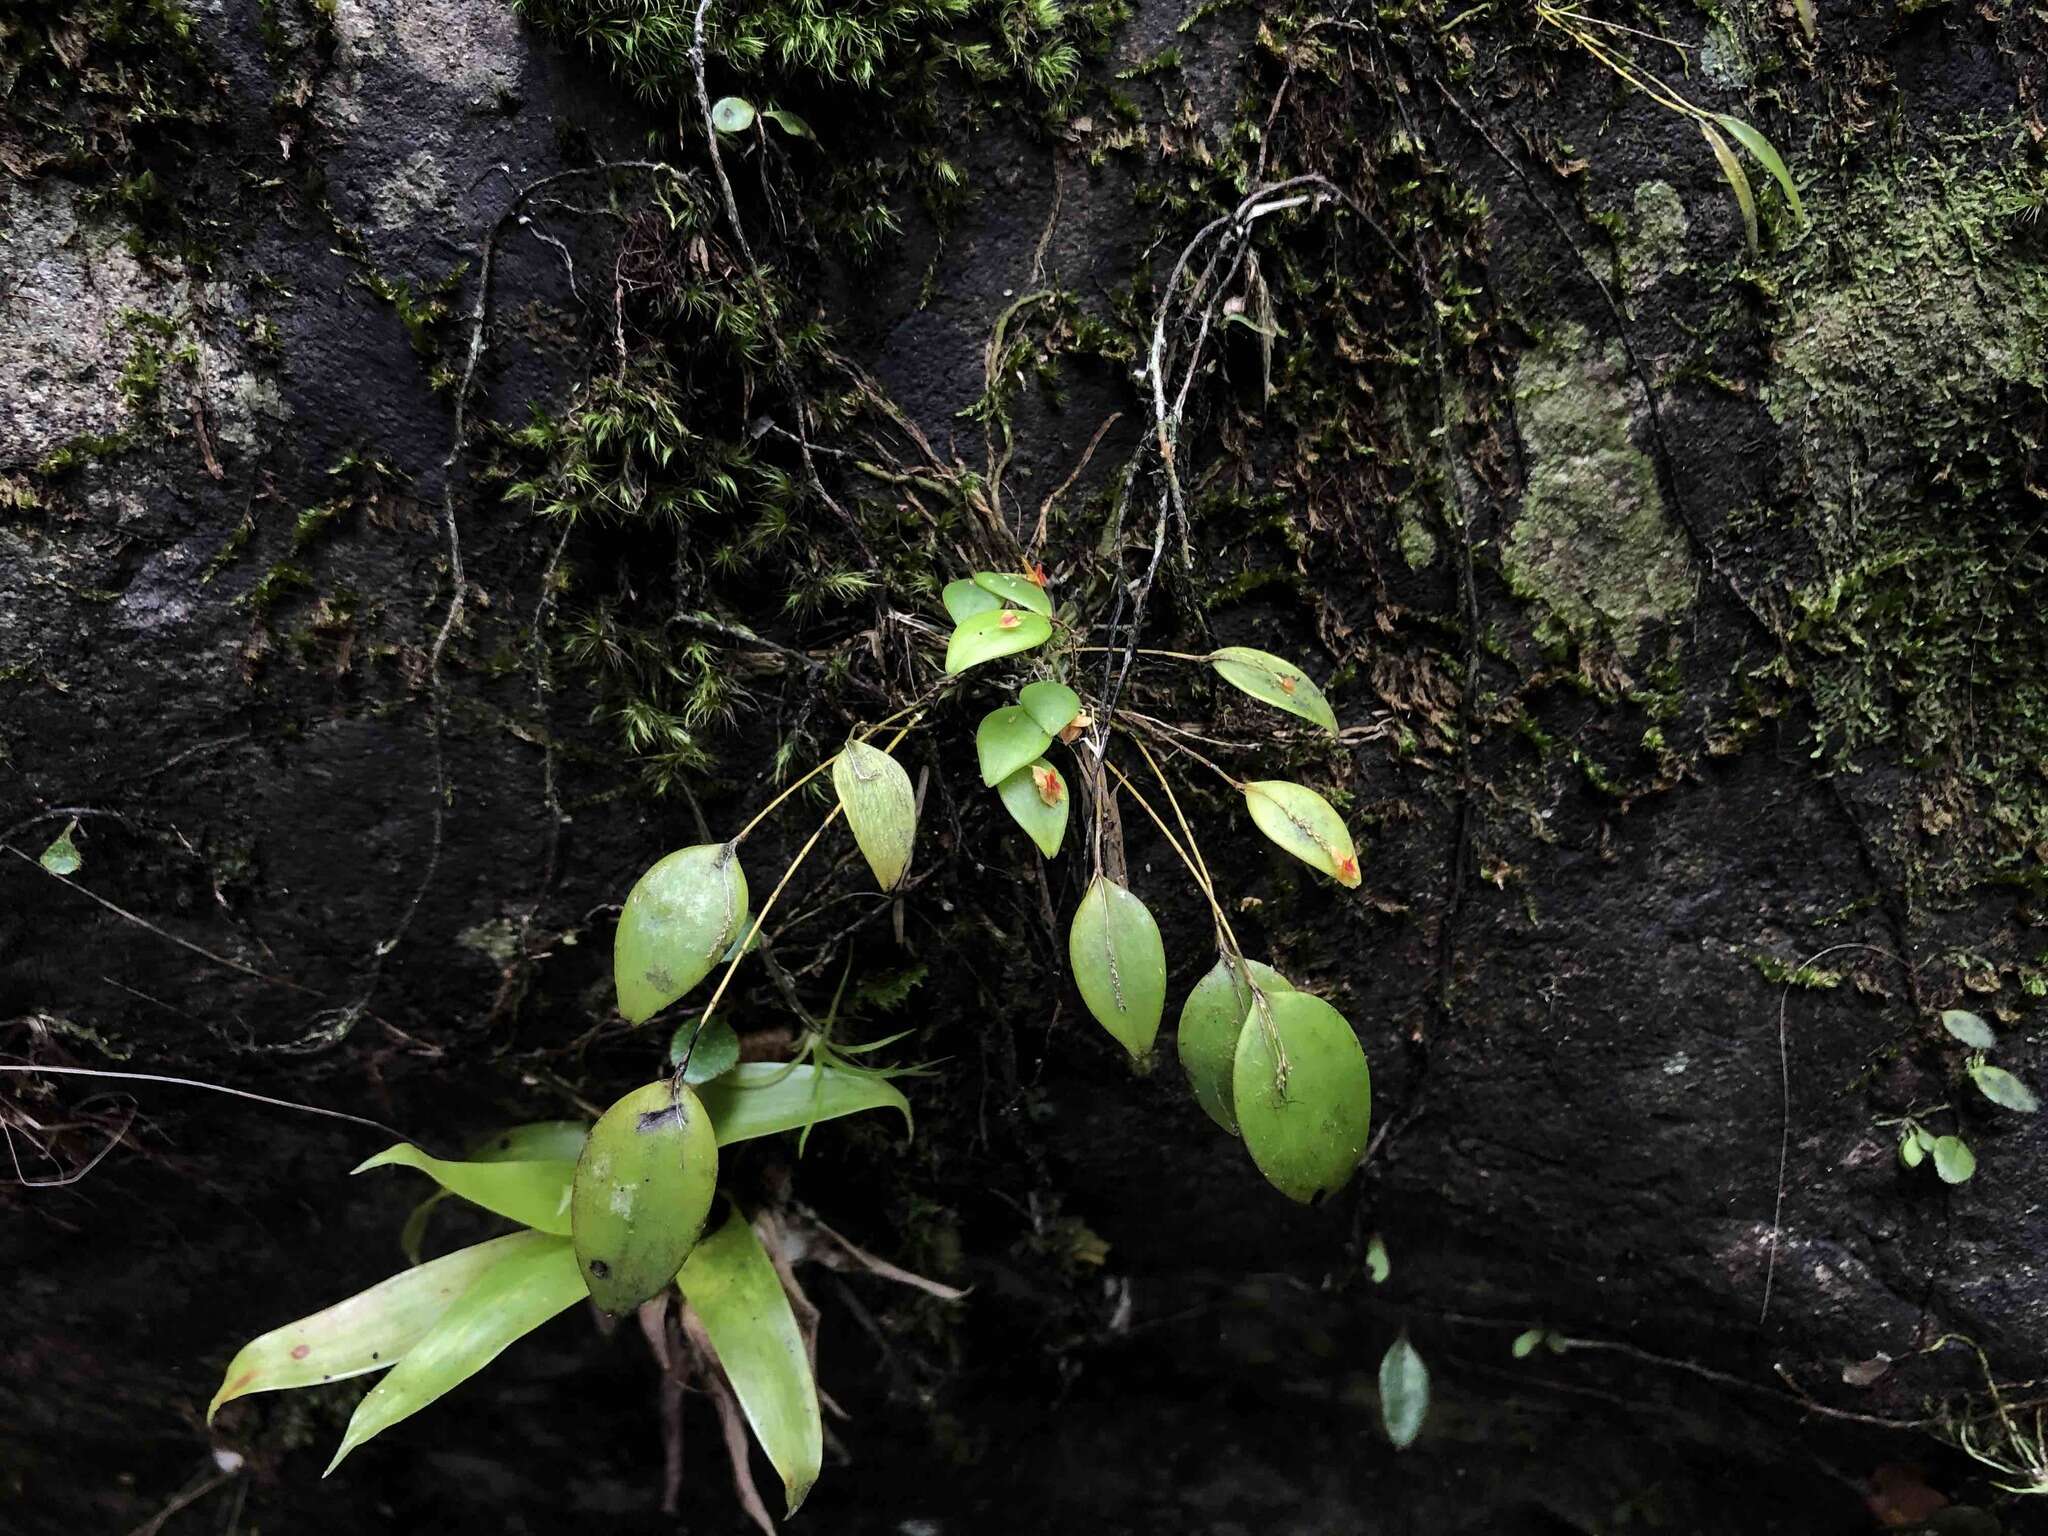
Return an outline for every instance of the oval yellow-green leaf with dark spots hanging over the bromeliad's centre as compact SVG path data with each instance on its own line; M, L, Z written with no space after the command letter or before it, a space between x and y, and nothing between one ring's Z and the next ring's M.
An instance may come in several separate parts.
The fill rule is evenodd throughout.
M575 1163L569 1231L590 1298L631 1313L668 1290L719 1192L719 1137L696 1094L635 1087L594 1126Z

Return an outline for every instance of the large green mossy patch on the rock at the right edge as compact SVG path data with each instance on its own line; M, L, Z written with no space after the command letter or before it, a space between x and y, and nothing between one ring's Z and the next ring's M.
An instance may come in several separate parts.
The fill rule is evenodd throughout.
M1808 539L1794 637L1837 760L1884 748L1939 838L1925 891L2030 879L2048 848L2048 174L1931 158L1815 209L1767 403Z

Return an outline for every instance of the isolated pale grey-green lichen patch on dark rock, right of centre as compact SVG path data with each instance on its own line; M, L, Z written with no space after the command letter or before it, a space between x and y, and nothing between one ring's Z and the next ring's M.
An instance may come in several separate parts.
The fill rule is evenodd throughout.
M1620 348L1595 350L1579 326L1522 358L1516 410L1530 475L1501 569L1548 610L1540 639L1632 655L1647 625L1692 604L1694 580L1657 471L1630 438L1624 379Z

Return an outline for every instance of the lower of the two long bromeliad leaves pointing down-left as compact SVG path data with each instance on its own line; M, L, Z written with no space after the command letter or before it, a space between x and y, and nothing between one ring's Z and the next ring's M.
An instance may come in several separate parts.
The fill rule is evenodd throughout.
M461 1386L504 1354L508 1343L582 1298L584 1278L575 1272L575 1251L565 1239L543 1239L494 1264L406 1352L391 1374L356 1403L328 1473L365 1440Z

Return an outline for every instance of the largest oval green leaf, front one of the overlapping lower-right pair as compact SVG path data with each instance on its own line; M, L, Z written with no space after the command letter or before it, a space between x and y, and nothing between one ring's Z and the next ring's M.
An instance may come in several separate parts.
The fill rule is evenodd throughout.
M1321 997L1276 991L1266 1010L1262 1020L1253 999L1237 1036L1237 1128L1266 1182L1307 1204L1358 1171L1372 1130L1372 1075L1352 1026Z

